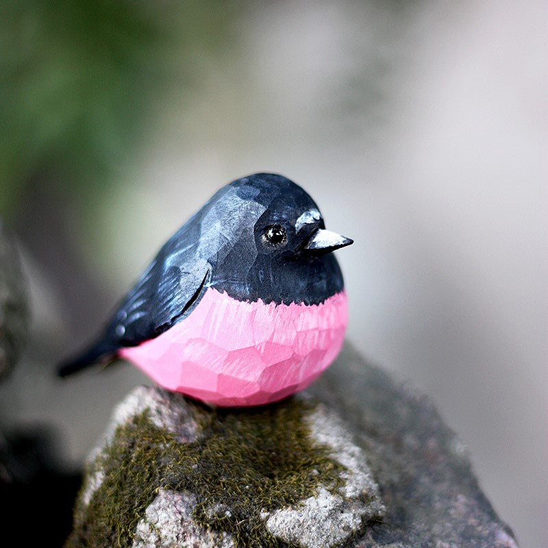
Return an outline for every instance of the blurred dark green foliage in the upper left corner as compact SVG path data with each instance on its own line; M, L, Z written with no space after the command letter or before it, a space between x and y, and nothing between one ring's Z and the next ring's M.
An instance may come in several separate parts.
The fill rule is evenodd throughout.
M236 4L1 0L0 212L45 177L97 195L130 162L162 99L222 51ZM103 187L104 188L104 187Z

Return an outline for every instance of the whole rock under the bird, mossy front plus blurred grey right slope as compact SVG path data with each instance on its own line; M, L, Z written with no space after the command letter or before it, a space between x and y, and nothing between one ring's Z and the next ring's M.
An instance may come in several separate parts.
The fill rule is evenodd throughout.
M66 547L515 548L425 397L346 347L307 394L210 409L138 388Z

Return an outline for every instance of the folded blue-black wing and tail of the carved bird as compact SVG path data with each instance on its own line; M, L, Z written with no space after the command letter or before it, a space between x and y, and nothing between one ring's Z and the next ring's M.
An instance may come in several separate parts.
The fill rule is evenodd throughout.
M193 237L189 240L188 236ZM179 231L166 243L123 299L97 342L62 364L62 377L95 362L111 361L121 347L155 338L190 314L205 292L211 273L209 262L197 257L195 236Z

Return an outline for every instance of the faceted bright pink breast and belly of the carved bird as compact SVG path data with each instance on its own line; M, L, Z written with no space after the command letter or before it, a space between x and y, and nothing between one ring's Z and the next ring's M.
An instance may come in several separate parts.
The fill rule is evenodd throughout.
M219 406L256 406L306 388L336 358L344 292L319 305L243 302L209 288L186 319L119 356L164 388Z

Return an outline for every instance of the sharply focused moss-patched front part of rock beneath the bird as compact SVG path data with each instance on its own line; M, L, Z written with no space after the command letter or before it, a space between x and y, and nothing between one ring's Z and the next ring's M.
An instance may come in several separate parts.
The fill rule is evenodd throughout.
M382 518L364 453L317 401L212 410L138 388L92 455L67 547L332 547Z

